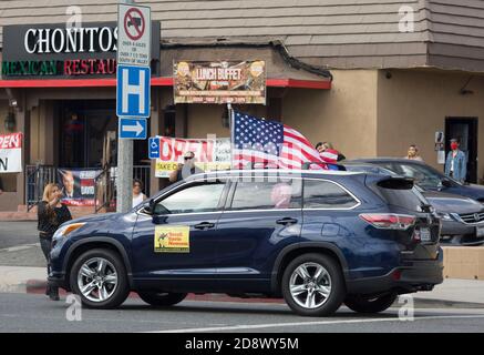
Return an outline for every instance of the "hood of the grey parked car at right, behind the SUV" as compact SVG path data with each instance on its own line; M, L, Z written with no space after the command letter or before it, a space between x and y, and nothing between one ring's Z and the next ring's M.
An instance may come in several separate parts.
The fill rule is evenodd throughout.
M425 191L422 193L436 212L442 213L476 213L483 205L472 199L452 193Z

